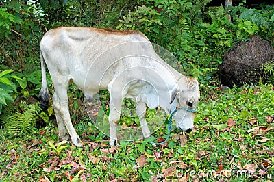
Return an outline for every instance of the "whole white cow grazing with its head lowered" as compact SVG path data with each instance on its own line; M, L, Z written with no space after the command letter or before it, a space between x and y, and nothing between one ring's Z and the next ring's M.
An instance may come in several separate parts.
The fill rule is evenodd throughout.
M155 53L140 31L117 31L92 27L59 27L47 31L40 42L41 105L49 103L46 64L53 81L53 105L60 138L82 146L69 114L69 83L73 82L88 101L99 90L110 92L110 145L114 146L123 99L136 103L144 137L151 135L145 119L146 105L161 107L174 115L177 128L191 131L199 101L196 79L187 78ZM69 135L66 134L66 129Z

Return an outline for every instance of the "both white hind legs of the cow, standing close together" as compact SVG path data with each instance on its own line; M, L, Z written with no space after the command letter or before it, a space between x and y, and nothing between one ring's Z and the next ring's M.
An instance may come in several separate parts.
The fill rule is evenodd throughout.
M64 129L65 126L71 136L71 142L73 142L75 146L82 147L81 140L73 127L71 116L69 114L67 86L55 86L54 97L54 108L57 115L56 119L58 120L57 123L60 137L64 139L67 138L66 131Z

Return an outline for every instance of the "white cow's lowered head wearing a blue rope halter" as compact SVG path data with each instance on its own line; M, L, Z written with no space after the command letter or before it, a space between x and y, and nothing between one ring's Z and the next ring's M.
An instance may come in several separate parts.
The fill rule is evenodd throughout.
M177 107L177 112L175 112L173 118L178 129L186 132L192 131L199 97L200 92L197 79L188 78L177 81L177 86L171 92L171 105Z

